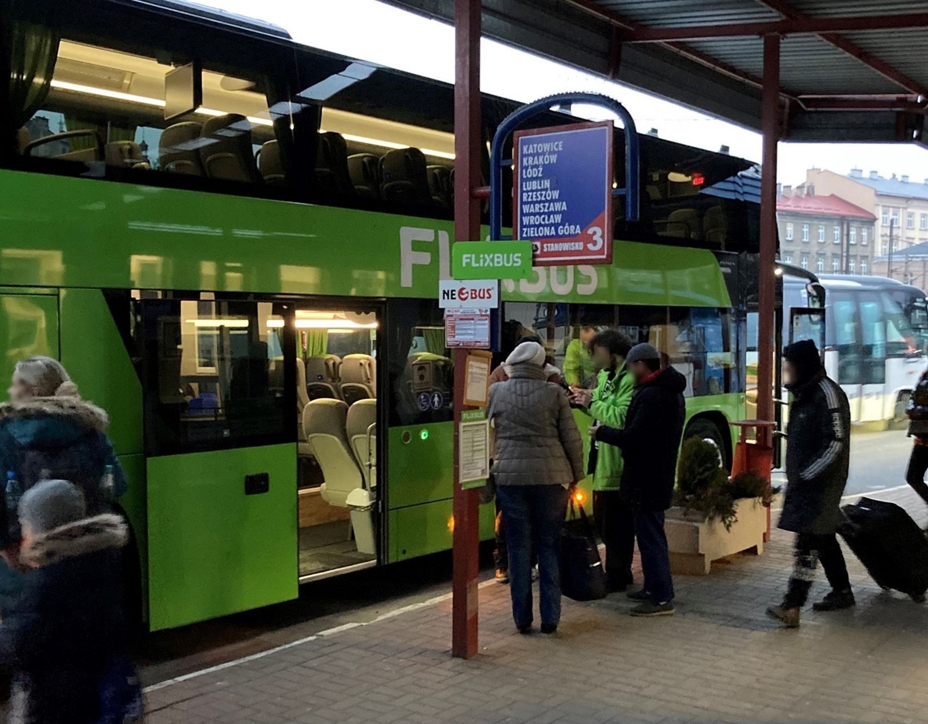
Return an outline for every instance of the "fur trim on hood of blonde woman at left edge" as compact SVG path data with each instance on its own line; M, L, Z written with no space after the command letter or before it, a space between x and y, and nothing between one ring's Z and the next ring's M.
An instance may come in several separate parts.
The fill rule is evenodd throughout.
M0 404L0 427L22 446L67 445L87 432L105 433L110 418L77 396L32 397Z

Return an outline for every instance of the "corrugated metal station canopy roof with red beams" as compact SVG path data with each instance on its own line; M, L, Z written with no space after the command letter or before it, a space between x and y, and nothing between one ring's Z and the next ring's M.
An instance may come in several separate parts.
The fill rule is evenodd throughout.
M483 0L487 37L756 130L771 33L785 140L925 143L925 0Z

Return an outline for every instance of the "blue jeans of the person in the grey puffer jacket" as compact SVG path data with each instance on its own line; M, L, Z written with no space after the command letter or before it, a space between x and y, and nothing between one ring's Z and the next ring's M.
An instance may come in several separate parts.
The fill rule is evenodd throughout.
M530 626L532 614L532 549L538 556L541 622L561 621L561 526L567 513L567 491L561 485L499 485L496 498L506 522L509 547L509 594L517 627Z

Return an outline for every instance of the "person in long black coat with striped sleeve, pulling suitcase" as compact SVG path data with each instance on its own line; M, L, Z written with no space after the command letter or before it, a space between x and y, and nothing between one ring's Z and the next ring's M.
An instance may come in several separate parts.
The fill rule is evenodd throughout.
M796 535L793 575L783 602L767 614L799 626L818 561L831 592L813 608L837 611L854 605L844 554L835 533L850 460L851 410L847 395L826 374L818 347L802 340L783 349L783 381L793 394L786 444L786 498L780 528Z

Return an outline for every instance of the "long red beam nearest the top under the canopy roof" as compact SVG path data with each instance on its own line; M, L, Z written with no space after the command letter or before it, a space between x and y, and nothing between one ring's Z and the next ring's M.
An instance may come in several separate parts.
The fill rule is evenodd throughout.
M573 0L571 0L573 2ZM624 43L671 43L681 40L750 37L752 35L793 35L799 33L899 30L928 27L928 13L867 15L848 18L802 16L773 22L740 22L722 25L696 25L690 28L651 28L638 25L621 34Z

